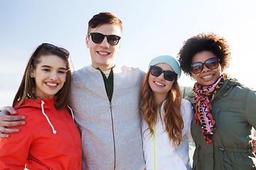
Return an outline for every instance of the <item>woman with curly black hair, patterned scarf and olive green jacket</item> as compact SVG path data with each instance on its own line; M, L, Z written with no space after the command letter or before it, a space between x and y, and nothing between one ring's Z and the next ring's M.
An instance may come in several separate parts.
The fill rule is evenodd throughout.
M255 169L256 94L224 73L228 42L202 33L186 40L178 55L183 72L197 81L188 96L195 110L193 169Z

